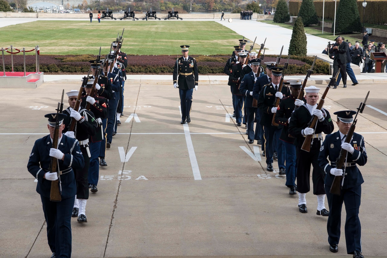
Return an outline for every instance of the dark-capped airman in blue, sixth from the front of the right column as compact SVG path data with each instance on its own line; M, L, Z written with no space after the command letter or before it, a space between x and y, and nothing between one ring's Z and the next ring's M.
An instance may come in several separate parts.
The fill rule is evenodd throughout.
M253 107L253 87L254 83L259 76L259 66L261 59L253 59L250 61L252 71L245 75L241 79L241 85L239 87L240 92L245 96L245 109L246 109L246 122L247 122L247 134L248 143L254 143L254 139L257 139L257 134L254 131L254 116L257 112L257 108Z

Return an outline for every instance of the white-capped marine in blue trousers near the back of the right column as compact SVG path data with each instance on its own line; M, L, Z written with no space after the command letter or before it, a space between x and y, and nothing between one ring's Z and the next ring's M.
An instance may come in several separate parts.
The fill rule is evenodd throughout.
M230 85L231 94L233 95L233 106L234 106L234 116L236 120L236 125L241 126L242 124L242 106L243 106L243 95L239 91L240 85L240 73L243 66L245 66L245 61L247 59L247 52L241 51L238 54L238 61L231 68L231 75L228 77L228 85Z

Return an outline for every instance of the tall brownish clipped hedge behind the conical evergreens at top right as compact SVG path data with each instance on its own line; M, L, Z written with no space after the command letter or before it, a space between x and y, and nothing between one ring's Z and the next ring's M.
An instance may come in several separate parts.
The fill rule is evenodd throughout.
M297 16L300 11L302 1L289 1L289 14L292 16ZM365 22L371 24L387 24L387 5L386 1L373 1L367 0L367 7L364 9L361 5L363 1L356 1L360 14L360 22L363 23L363 12L365 10ZM313 1L313 4L316 9L317 16L322 18L322 6L323 1ZM336 11L339 7L339 1L336 3ZM377 11L375 11L377 10ZM325 1L325 12L324 19L334 20L335 15L335 2L334 1Z

